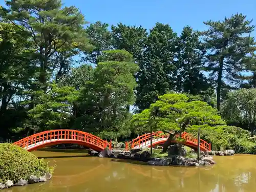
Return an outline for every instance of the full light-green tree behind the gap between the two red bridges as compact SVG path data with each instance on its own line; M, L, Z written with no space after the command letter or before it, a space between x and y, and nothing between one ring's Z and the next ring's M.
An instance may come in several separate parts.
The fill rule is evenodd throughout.
M126 106L134 103L136 81L133 74L138 66L131 54L122 50L105 51L93 70L78 99L80 116L75 127L103 138L116 138L130 133L126 126L129 112Z

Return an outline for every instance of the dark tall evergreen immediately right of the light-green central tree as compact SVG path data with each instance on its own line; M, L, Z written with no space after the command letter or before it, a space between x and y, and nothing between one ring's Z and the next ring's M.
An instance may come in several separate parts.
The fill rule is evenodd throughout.
M136 105L139 111L149 108L158 95L175 89L177 46L177 34L169 25L157 23L150 30L137 75Z

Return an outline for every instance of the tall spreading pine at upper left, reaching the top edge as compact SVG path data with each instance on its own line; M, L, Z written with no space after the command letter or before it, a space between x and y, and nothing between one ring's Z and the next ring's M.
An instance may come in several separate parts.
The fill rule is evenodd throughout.
M10 0L6 2L8 19L15 27L23 26L34 41L38 59L38 87L47 90L47 82L60 69L58 54L69 57L77 50L89 50L83 29L84 16L74 6L61 8L60 0ZM20 29L23 29L20 28ZM63 64L63 63L62 63ZM63 66L62 66L63 67Z

